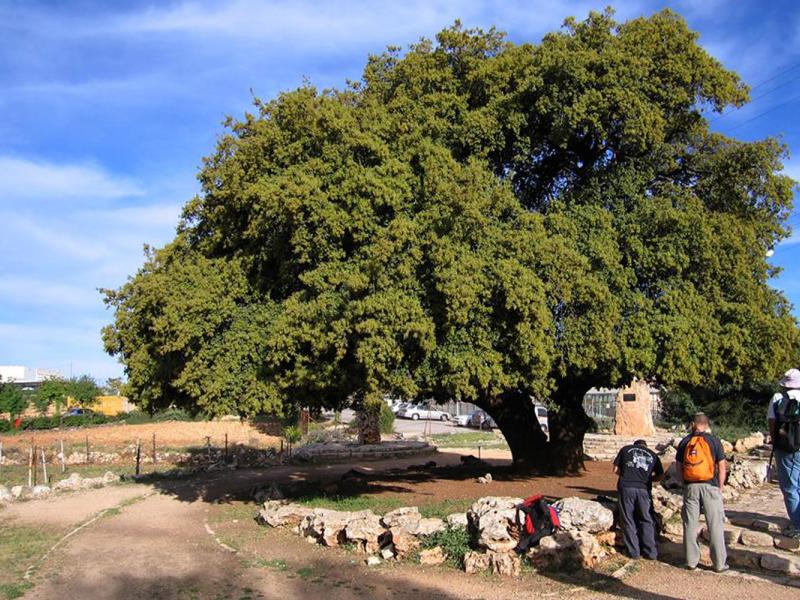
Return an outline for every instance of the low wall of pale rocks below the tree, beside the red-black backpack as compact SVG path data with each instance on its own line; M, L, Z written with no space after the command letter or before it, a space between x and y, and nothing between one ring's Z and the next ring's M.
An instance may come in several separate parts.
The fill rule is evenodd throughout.
M422 564L440 564L447 559L440 546L421 551L420 547L424 538L447 527L466 528L469 533L472 550L464 557L468 573L488 570L518 575L522 558L537 568L565 564L591 568L614 552L613 513L598 502L565 498L557 506L562 529L521 558L515 552L519 539L516 506L521 502L520 498L488 496L473 503L466 514L454 513L442 520L424 518L413 506L379 516L370 510L310 508L277 498L264 502L256 519L270 527L289 527L313 544L353 545L367 556L368 564L412 553L418 553Z

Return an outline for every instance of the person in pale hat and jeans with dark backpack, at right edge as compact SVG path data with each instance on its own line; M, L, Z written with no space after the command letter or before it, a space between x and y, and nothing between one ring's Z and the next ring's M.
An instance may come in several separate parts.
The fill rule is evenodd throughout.
M789 369L780 383L783 390L772 397L767 421L778 484L792 522L784 533L800 537L800 370Z

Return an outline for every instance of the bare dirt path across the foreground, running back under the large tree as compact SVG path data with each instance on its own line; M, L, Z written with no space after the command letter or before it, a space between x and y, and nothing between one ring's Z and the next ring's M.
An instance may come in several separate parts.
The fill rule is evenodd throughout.
M438 467L460 463L454 453L432 458ZM622 581L583 572L528 572L519 579L509 579L412 564L385 563L368 568L363 557L352 551L310 545L289 531L256 525L256 507L246 500L255 485L335 480L351 468L372 475L369 485L376 486L374 493L399 494L409 501L447 495L523 496L531 491L586 496L609 491L614 482L610 466L603 463L590 465L578 477L509 476L488 486L459 478L455 470L450 475L446 469L435 471L430 481L385 474L413 462L420 461L284 466L215 473L192 481L77 492L19 504L15 512L0 511L0 526L9 521L52 519L49 522L74 527L96 514L92 511L111 508L36 566L34 587L25 595L32 599L800 599L800 590L783 582L736 572L723 576L705 571L688 573L677 565L660 562L637 564ZM500 466L496 463L496 470Z

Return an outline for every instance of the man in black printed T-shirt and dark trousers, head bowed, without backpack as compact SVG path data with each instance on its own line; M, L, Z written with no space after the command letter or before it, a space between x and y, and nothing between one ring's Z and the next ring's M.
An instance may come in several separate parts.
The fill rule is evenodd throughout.
M664 477L664 467L644 440L625 446L614 459L614 473L619 475L617 492L625 546L628 555L638 559L658 558L655 523L653 521L654 481Z

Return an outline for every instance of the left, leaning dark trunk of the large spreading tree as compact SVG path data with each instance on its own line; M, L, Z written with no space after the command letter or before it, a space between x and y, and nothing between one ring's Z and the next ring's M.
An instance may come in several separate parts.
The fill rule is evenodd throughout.
M504 392L479 404L494 419L511 448L514 468L549 470L547 436L536 418L531 397L520 391Z

